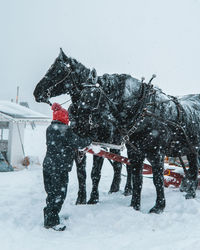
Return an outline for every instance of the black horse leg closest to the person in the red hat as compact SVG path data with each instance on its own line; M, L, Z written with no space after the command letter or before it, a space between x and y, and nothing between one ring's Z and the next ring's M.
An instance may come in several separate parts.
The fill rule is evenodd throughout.
M76 171L78 177L79 191L76 199L76 205L86 204L86 156L81 162L78 162L78 155L75 155Z

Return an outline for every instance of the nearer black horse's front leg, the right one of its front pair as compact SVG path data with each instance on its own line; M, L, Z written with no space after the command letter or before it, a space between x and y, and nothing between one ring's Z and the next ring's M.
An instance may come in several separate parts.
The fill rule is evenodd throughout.
M164 155L153 154L148 157L153 171L153 183L156 187L156 204L152 207L149 213L162 213L165 208L164 195Z

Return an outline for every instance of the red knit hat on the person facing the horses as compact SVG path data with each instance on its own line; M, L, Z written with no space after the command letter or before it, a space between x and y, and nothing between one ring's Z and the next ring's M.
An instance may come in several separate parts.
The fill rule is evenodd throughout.
M53 103L51 106L51 109L53 110L53 120L54 121L60 121L64 124L69 123L69 114L68 111L64 108L59 103Z

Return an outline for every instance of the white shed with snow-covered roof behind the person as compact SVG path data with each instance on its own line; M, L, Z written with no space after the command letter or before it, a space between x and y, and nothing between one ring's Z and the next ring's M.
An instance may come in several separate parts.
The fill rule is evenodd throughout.
M19 104L0 101L0 152L12 166L24 159L24 130L27 123L47 124L51 118ZM1 171L1 170L0 170Z

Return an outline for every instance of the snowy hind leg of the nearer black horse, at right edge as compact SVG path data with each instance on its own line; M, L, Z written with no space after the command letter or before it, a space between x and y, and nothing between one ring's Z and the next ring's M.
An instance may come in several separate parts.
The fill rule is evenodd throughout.
M196 197L196 189L198 186L198 173L199 173L199 155L190 153L187 155L189 162L189 170L187 176L181 182L181 191L185 191L186 199Z

